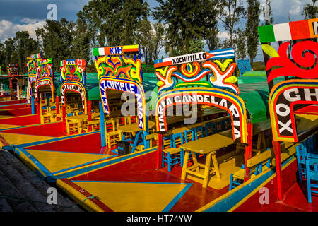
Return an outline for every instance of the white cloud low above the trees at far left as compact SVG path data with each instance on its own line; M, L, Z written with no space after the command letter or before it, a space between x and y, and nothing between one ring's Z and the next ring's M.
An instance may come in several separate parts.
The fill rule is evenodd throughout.
M12 23L8 20L0 20L0 41L4 42L8 38L16 36L18 31L28 31L30 37L36 39L35 30L37 28L43 28L45 20L33 20L30 18L23 18L20 20L21 24Z

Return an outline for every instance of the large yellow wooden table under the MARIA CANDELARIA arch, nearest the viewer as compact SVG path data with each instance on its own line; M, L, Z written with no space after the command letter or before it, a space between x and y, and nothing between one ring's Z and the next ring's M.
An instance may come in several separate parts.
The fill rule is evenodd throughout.
M216 150L227 147L232 143L233 139L231 137L216 133L212 136L206 136L199 140L190 141L189 143L180 145L180 148L185 151L181 179L186 179L187 174L201 177L203 179L202 187L204 188L208 186L208 177L210 174L216 172L216 177L220 179L220 169L218 167L218 161L216 160ZM192 153L194 165L187 167L190 152ZM198 162L195 153L206 154L205 165ZM211 167L211 158L214 167ZM200 172L200 167L204 168L204 174Z

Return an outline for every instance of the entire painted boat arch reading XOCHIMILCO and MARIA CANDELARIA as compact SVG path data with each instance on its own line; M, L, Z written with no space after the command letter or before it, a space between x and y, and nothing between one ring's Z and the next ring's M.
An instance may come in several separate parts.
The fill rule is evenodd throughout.
M155 61L157 131L167 131L169 106L210 105L230 114L233 140L247 143L247 111L239 95L234 58L233 49L220 49Z

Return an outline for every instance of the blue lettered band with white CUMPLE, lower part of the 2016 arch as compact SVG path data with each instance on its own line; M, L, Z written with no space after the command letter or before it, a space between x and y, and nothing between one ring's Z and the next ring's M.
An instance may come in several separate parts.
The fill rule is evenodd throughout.
M110 110L108 107L108 101L107 101L107 95L106 95L106 90L107 88L112 89L112 90L119 90L123 92L129 92L133 93L136 96L137 100L137 112L138 112L138 125L139 128L145 129L145 110L143 109L144 107L144 95L143 95L143 90L140 87L140 85L137 85L137 83L127 81L127 80L122 80L120 81L119 78L116 80L112 80L110 78L101 78L100 80L100 95L102 97L102 103L104 106L104 112L107 114L110 114Z

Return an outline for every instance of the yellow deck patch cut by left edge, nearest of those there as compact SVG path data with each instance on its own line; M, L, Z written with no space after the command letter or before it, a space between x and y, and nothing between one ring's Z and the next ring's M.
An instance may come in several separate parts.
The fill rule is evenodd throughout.
M52 139L52 136L33 136L25 134L15 134L15 133L0 133L6 142L10 145L18 145L24 143L31 143L35 141L45 141Z

